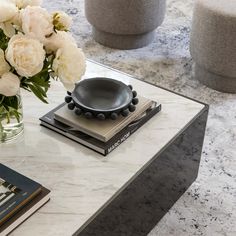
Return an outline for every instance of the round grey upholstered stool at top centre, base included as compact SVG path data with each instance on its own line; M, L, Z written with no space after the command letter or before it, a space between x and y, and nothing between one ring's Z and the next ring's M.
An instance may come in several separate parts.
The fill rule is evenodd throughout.
M85 0L93 37L105 46L134 49L151 43L162 24L166 0Z

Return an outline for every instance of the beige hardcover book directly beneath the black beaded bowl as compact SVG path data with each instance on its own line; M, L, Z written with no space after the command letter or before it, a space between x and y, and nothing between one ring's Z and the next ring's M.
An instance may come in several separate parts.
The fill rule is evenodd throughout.
M67 108L67 105L65 105L54 112L54 119L74 127L102 142L107 142L116 133L145 112L151 105L152 101L150 99L139 97L139 103L136 106L136 110L127 117L119 116L117 120L86 119L84 116L77 116L73 111Z

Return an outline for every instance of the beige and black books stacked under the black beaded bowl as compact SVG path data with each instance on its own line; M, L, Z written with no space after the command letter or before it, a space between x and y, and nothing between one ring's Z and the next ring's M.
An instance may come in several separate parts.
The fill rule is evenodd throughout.
M106 156L161 110L161 104L139 97L136 110L117 120L86 119L63 103L40 118L41 125Z

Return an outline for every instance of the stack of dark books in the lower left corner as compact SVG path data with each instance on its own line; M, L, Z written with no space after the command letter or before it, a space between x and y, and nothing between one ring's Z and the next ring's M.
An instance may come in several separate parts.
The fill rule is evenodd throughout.
M49 201L50 191L0 164L0 235L8 235Z

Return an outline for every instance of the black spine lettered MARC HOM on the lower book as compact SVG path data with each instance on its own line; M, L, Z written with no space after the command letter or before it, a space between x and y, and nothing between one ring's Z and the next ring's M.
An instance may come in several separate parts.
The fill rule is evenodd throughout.
M161 105L152 109L145 117L141 118L137 121L137 124L132 124L118 133L111 142L108 142L105 148L105 156L115 150L118 146L120 146L126 139L128 139L136 130L138 130L141 126L143 126L148 120L150 120L155 114L157 114L161 110Z

